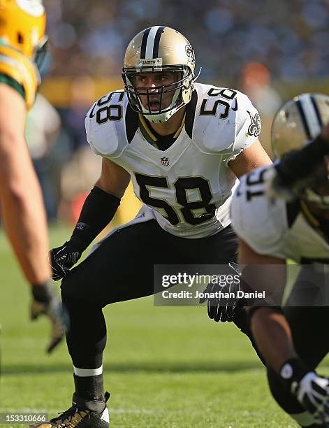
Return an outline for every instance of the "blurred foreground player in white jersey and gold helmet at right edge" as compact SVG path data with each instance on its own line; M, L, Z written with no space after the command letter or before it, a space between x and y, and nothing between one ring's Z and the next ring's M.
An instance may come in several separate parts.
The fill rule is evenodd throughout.
M326 95L302 94L284 104L272 125L281 162L242 177L231 205L249 288L277 292L286 282L286 259L301 265L284 306L265 299L249 313L272 395L302 427L329 426L329 380L315 371L329 351L323 328L329 317L328 122Z

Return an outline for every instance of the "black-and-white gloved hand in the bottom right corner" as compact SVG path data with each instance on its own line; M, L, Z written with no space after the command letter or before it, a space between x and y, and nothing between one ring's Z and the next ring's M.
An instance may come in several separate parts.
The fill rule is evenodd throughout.
M309 371L298 383L294 382L291 390L300 404L314 420L329 422L329 379Z

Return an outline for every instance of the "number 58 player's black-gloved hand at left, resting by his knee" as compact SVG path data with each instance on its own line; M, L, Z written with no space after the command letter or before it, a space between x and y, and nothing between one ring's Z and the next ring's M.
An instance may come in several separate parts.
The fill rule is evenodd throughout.
M82 251L73 243L67 241L61 247L50 250L50 265L52 266L52 279L58 281L64 278L72 266L78 262Z

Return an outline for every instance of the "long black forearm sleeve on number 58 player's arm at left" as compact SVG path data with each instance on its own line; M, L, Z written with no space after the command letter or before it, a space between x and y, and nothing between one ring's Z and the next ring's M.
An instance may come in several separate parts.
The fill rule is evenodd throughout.
M113 194L94 187L82 206L78 223L70 238L81 252L96 238L114 217L120 199Z

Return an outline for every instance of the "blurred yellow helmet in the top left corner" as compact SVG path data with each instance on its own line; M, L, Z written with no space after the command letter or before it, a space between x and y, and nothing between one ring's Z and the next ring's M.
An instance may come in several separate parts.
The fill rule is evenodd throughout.
M0 0L0 39L27 58L40 61L47 41L42 1Z

